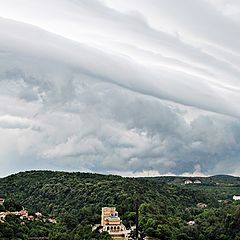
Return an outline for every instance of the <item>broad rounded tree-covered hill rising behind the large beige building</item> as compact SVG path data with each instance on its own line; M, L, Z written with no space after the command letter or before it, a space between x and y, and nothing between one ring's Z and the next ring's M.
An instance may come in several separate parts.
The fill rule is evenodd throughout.
M91 173L52 171L21 172L0 181L0 195L12 197L25 207L45 214L91 212L99 220L102 206L115 205L120 214L134 210L136 198L158 205L162 211L198 202L216 203L214 196L200 187L182 186L179 177L123 178ZM205 179L209 183L209 179ZM210 181L212 183L212 181ZM96 215L97 214L97 215Z

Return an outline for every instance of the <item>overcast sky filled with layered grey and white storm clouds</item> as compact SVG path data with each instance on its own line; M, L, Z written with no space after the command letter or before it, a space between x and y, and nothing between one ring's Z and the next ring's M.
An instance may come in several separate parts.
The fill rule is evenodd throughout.
M239 174L234 0L0 3L0 175Z

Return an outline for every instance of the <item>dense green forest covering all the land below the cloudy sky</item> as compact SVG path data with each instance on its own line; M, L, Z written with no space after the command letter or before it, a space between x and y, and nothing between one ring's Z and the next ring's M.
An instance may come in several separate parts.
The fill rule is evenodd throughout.
M184 181L201 183L185 185ZM56 224L8 216L0 239L110 239L92 232L101 208L115 206L127 228L139 206L140 238L176 240L240 239L240 178L123 178L91 173L29 171L0 179L3 210L24 206L54 217ZM240 201L239 201L240 202ZM1 211L1 209L0 209ZM133 233L134 235L134 233Z

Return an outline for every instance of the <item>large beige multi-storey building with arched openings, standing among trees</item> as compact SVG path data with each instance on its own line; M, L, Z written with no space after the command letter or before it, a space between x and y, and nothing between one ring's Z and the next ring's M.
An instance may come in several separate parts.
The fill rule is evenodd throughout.
M112 239L128 239L126 227L122 224L115 207L102 208L102 231L106 231Z

